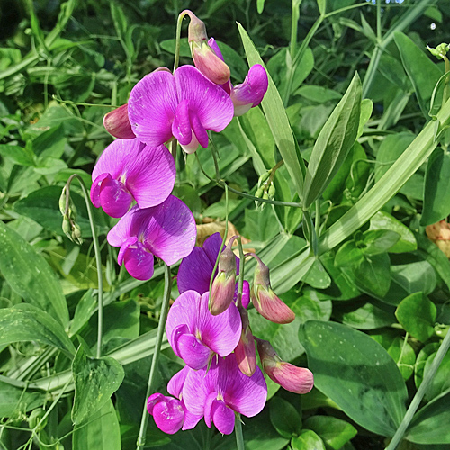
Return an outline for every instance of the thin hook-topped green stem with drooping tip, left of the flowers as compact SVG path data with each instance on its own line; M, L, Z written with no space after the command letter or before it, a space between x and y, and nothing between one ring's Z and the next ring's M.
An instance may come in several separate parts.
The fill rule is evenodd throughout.
M94 243L95 264L97 266L97 283L98 283L98 330L97 330L97 358L102 356L102 335L103 335L103 274L102 274L102 257L100 254L100 246L98 245L97 230L94 223L94 214L92 212L92 205L89 201L90 196L85 187L85 182L80 175L74 174L69 177L66 184L66 210L68 208L68 198L70 196L70 184L72 180L76 178L80 185L81 190L85 196L85 206L87 209L87 215L89 217L89 224L91 225L92 241Z

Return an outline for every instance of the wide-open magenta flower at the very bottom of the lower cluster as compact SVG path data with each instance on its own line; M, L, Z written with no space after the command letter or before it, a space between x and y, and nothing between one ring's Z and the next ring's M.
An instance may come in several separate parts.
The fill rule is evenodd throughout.
M263 410L267 385L259 367L252 376L244 375L234 355L229 355L213 361L210 369L190 371L183 398L186 408L204 416L209 428L213 422L220 433L229 435L234 428L235 411L253 417Z

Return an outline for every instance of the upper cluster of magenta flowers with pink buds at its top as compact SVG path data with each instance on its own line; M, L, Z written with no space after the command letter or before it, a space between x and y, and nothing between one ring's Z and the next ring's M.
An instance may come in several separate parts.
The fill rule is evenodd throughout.
M207 148L207 131L224 130L233 115L257 106L268 85L264 67L254 66L244 83L233 87L217 43L208 41L193 13L181 15L186 14L196 67L178 67L173 74L159 67L134 86L129 103L105 115L106 130L118 139L103 151L92 174L94 206L121 218L108 242L121 248L119 265L139 280L153 275L154 256L171 265L195 244L193 215L170 194L175 155L165 144L176 139L186 153Z

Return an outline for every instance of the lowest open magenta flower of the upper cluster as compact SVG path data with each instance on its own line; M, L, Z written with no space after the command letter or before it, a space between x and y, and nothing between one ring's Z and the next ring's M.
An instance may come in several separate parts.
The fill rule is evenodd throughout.
M108 242L121 247L117 262L131 276L148 280L153 275L153 256L173 265L193 250L197 229L189 208L173 195L152 208L136 205L108 233Z

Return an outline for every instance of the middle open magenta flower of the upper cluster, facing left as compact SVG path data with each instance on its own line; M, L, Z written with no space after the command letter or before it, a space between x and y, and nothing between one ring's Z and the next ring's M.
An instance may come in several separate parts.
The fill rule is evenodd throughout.
M163 145L117 139L99 158L92 173L91 200L112 217L121 217L135 200L139 208L164 202L175 184L175 162Z

